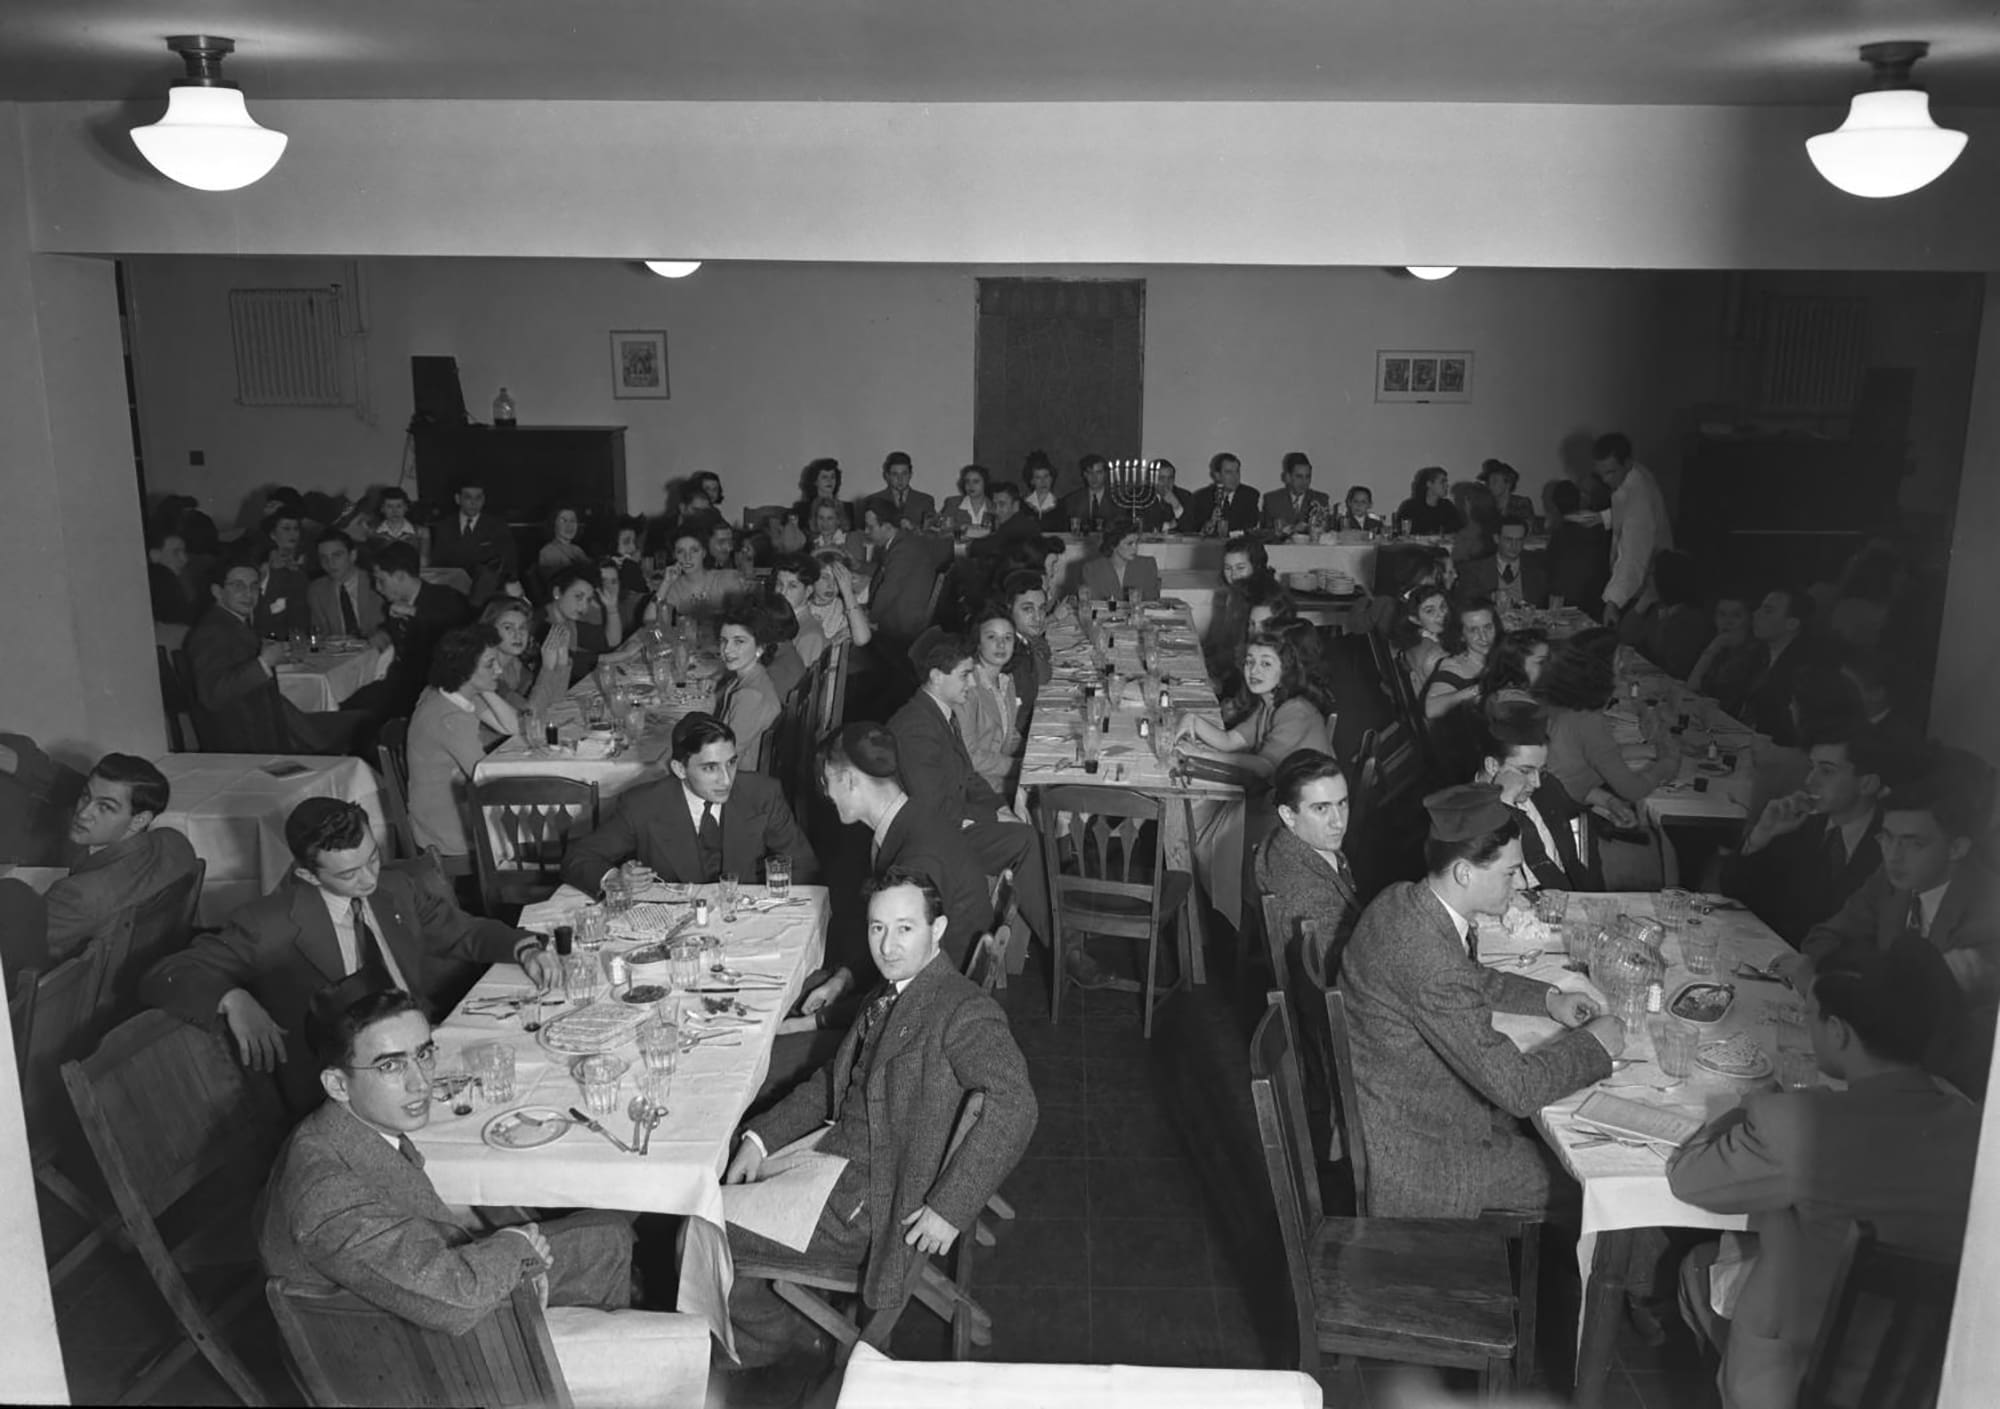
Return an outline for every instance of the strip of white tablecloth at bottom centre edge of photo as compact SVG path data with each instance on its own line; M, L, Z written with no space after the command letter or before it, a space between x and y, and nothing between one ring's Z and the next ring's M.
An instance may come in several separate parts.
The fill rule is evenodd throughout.
M892 1361L856 1345L838 1409L1318 1409L1296 1369Z

